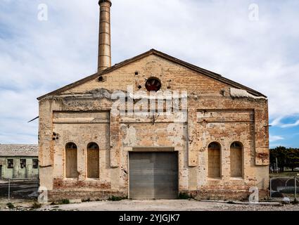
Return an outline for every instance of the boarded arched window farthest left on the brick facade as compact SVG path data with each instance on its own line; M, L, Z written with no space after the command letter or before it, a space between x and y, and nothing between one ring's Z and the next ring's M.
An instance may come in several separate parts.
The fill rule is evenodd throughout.
M77 146L75 143L67 143L65 146L65 177L77 178Z

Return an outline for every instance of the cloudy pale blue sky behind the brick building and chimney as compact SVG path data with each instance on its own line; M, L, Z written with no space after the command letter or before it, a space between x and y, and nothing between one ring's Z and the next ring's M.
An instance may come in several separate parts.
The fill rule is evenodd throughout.
M157 49L257 89L271 147L299 147L298 0L112 1L113 64ZM37 143L36 98L96 72L97 44L97 0L0 0L0 143Z

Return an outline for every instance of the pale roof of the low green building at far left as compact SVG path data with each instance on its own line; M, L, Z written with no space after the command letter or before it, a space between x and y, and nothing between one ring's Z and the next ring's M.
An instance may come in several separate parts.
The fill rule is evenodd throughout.
M37 145L2 145L0 144L1 156L34 156L39 155L39 147Z

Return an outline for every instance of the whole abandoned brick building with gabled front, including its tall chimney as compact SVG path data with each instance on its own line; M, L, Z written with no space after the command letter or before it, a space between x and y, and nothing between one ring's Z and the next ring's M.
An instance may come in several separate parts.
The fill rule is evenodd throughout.
M49 198L265 197L267 97L155 50L111 67L111 2L99 4L98 72L38 98Z

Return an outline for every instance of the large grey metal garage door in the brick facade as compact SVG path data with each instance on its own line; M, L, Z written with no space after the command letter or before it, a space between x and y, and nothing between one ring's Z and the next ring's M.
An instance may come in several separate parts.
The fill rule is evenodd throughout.
M129 197L177 198L177 163L177 153L129 153Z

